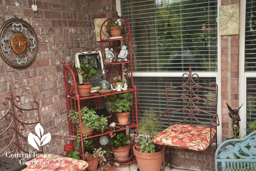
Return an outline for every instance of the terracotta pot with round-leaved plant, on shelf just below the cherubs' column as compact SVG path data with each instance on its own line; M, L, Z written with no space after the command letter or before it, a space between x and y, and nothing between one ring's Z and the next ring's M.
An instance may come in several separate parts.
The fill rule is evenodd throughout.
M116 112L119 125L129 124L130 105L132 105L132 94L124 92L123 94L112 95L109 100L112 101L112 112Z

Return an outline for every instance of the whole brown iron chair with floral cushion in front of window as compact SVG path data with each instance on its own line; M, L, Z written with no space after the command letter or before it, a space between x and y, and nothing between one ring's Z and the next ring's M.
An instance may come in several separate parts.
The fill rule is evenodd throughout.
M217 126L220 125L217 114L218 85L216 83L211 83L209 88L204 87L202 84L195 82L194 79L198 78L198 74L192 74L191 67L189 66L189 73L184 73L182 75L184 81L183 84L174 86L171 82L167 82L165 85L167 110L151 118L152 120L159 120L160 129L162 131L154 138L153 142L155 144L169 146L171 166L171 147L186 148L203 152L215 141L217 148ZM173 97L172 95L174 94L175 96ZM211 97L211 99L208 99L207 97ZM182 105L177 105L177 101L182 103ZM200 118L198 119L199 115L201 117L205 116L208 119L206 119L206 121L201 121ZM161 119L168 120L168 128L164 130L162 129ZM203 129L203 131L201 129ZM186 131L187 138L183 134L178 134L178 132L184 131ZM204 139L202 142L200 142L200 140L194 141L193 138L191 139L189 137L192 134L195 136L199 135L198 131L208 132L202 135L207 141L204 141ZM180 137L180 139L173 141L172 138L174 137ZM183 139L183 142L180 144L187 142L186 145L179 144L179 141L182 141L182 138L185 139ZM176 142L176 144L172 142ZM194 147L194 144L198 144L198 146ZM204 170L204 155L202 155L202 170Z

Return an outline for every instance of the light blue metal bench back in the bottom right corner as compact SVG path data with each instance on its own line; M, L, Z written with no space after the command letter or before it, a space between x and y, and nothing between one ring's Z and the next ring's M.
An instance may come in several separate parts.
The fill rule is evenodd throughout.
M217 148L214 158L215 171L218 168L219 171L256 171L256 131L243 139L224 141ZM218 162L221 163L219 167Z

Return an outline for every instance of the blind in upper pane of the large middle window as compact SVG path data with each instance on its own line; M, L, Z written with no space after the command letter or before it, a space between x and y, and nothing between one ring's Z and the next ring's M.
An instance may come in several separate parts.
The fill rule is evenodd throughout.
M217 72L217 0L121 0L134 72Z

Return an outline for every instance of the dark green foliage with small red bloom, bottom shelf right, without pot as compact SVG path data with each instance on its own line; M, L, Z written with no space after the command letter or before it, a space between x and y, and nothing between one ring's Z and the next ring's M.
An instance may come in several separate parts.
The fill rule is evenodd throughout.
M108 145L110 145L112 148L118 148L118 147L124 147L128 144L130 144L129 136L125 136L124 133L116 133L116 135L111 135L110 137L112 138L109 142Z

